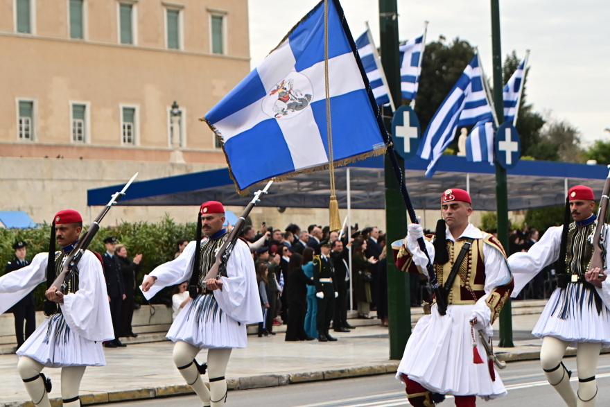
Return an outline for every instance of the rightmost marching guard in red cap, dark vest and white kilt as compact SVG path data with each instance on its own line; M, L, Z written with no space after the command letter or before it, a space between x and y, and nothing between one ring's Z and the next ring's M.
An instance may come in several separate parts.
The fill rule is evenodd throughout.
M513 295L519 294L540 270L559 260L557 288L532 334L542 338L540 362L548 382L570 407L595 406L598 393L595 370L601 348L610 346L610 291L608 282L604 281L606 272L600 268L589 270L594 255L603 257L606 265L610 260L609 253L602 256L591 239L598 222L604 221L596 218L594 208L591 188L584 185L570 188L564 225L549 227L528 252L515 253L508 259L515 277ZM602 238L609 241L607 227ZM570 386L572 372L561 361L568 346L577 349L576 393Z

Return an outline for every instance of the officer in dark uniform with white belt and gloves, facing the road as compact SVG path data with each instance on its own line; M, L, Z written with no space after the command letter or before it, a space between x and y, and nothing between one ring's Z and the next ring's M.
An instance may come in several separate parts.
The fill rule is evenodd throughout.
M329 334L331 320L335 312L335 297L338 296L335 282L335 268L331 259L331 243L320 242L320 254L313 258L313 282L317 297L317 340L320 342L334 341Z

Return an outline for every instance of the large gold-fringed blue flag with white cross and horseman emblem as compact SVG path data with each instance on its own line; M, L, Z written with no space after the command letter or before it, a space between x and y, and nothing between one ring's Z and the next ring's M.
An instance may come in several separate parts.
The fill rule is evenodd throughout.
M385 128L339 1L328 9L332 146L340 165L383 154ZM223 141L239 191L327 168L324 1L202 120Z

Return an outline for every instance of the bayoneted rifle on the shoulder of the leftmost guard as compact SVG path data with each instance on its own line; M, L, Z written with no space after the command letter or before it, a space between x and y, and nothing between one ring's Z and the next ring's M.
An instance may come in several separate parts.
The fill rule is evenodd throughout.
M95 218L91 226L89 226L89 229L87 229L87 232L85 232L85 234L83 234L80 239L78 239L78 243L76 243L70 254L68 254L68 256L64 259L60 275L58 275L55 281L51 285L49 285L49 288L58 287L58 291L60 291L62 294L65 294L67 284L74 275L74 271L76 270L78 262L82 258L82 254L85 253L85 250L87 250L87 248L89 247L89 243L91 243L98 230L100 230L100 222L102 221L104 216L106 216L108 211L110 211L110 208L113 205L116 205L116 203L119 202L119 200L123 198L123 196L125 196L125 191L127 191L129 186L136 179L137 176L138 173L135 173L134 176L131 177L131 180L129 180L129 182L125 184L125 187L123 187L121 192L115 192L112 194L110 202L108 202L104 209L102 209L102 211ZM46 267L47 270L49 270L49 268L53 269L54 266L54 264L49 263ZM53 315L56 310L57 303L51 300L44 300L44 315Z

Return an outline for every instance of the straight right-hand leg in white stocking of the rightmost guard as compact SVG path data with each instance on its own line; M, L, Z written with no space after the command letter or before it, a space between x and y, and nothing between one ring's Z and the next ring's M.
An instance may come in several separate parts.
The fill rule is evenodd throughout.
M576 365L578 369L578 407L595 406L598 395L595 370L598 367L601 343L579 343L576 349Z

